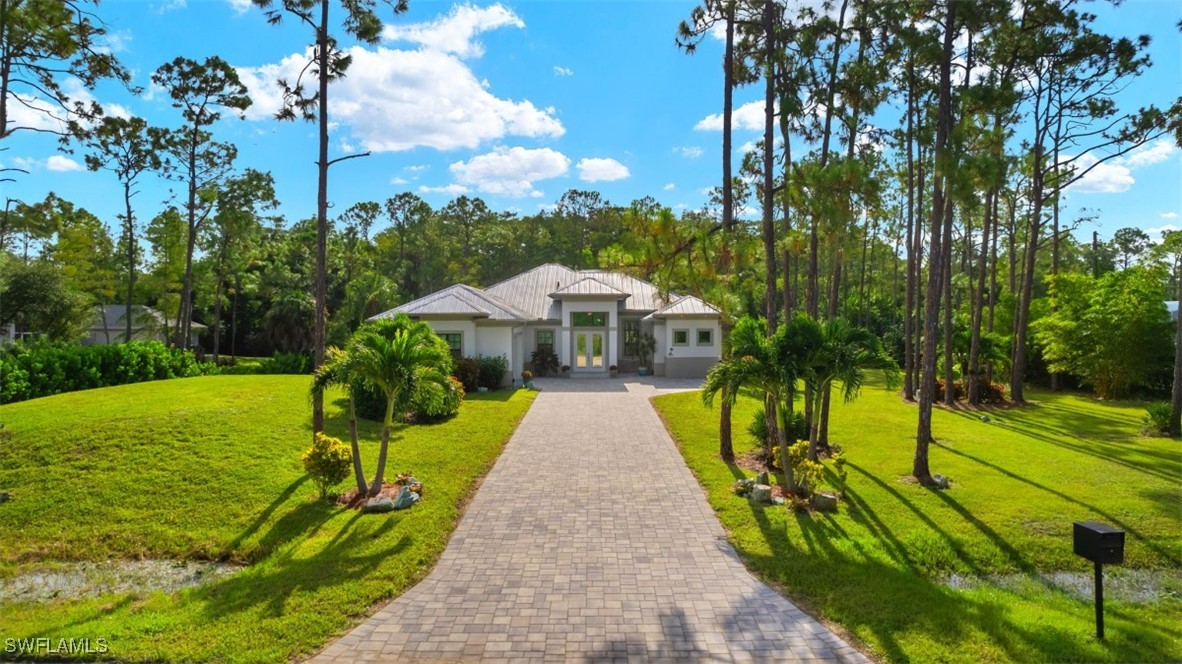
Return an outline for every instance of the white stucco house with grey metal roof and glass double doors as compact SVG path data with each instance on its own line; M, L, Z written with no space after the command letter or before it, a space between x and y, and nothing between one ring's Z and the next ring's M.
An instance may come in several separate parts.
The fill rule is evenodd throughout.
M722 343L719 310L699 298L662 297L635 276L556 263L483 289L457 284L371 320L400 313L430 325L456 357L504 354L506 384L537 350L556 353L573 376L647 366L656 376L703 377ZM656 341L650 358L641 357L642 334Z

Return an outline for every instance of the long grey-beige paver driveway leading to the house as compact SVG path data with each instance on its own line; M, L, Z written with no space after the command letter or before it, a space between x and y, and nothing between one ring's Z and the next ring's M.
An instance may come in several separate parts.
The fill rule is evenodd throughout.
M865 660L727 543L648 402L693 383L543 386L435 569L316 660Z

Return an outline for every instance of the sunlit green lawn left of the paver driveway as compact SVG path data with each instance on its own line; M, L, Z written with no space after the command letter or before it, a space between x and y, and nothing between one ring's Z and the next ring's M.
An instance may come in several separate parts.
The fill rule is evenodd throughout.
M131 660L277 662L309 653L431 567L461 504L533 395L470 395L460 415L396 432L390 476L423 501L362 515L317 500L306 376L215 376L0 408L0 574L61 561L214 559L245 571L173 594L0 607L0 638L105 638ZM342 393L327 430L346 437ZM366 473L378 425L363 422ZM344 487L343 487L344 488ZM2 657L2 655L0 655Z

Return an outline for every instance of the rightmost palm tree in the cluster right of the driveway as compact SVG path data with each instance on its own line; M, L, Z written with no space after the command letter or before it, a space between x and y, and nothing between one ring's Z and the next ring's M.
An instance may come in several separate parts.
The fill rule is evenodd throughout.
M812 428L808 431L808 458L817 461L821 395L834 383L842 384L845 402L858 398L866 371L882 370L888 385L898 380L898 364L883 350L882 341L864 327L834 318L825 323L798 315L788 326L788 345L799 353L805 390L811 395Z

